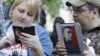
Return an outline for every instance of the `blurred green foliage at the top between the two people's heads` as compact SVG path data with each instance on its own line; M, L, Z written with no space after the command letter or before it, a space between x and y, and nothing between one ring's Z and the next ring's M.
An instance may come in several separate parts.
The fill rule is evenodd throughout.
M48 13L50 13L52 17L55 17L59 14L60 0L47 0L46 7Z

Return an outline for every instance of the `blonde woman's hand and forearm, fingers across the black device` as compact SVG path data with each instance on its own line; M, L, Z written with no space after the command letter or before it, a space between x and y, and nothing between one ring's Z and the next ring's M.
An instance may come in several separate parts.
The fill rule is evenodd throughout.
M44 51L37 36L21 32L18 34L19 40L22 44L32 48L34 56L44 56Z

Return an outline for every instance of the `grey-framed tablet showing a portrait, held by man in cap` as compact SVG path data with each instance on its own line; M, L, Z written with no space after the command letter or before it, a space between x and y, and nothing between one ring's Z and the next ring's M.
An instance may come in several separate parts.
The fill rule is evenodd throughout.
M58 40L65 44L67 56L82 56L84 39L79 23L57 23Z

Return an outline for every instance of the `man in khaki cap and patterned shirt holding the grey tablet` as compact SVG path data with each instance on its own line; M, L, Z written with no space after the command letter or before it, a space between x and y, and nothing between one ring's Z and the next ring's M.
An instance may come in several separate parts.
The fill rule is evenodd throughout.
M83 56L100 56L100 3L98 3L100 1L91 1L69 0L66 2L66 5L73 7L73 18L75 22L81 24L87 47L84 50ZM64 50L64 47L60 45L61 43L57 44L57 49L60 47ZM57 52L62 51L60 48ZM63 53L61 55L67 54L64 51L62 51ZM94 52L94 55L92 52Z

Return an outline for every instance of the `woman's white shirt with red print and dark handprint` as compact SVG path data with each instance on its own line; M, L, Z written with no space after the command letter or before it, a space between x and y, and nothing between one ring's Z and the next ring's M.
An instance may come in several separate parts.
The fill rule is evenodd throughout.
M10 34L13 34L13 30L12 30L12 26L10 26L8 28L8 31L6 32L6 36L9 36ZM4 41L7 37L3 37L3 39L1 41ZM14 37L9 38L10 40L14 40ZM25 45L21 45L17 44L17 45L13 45L11 47L8 48L4 48L2 50L0 50L0 56L12 56L12 55L22 55L22 56L27 56L27 47L25 47Z

